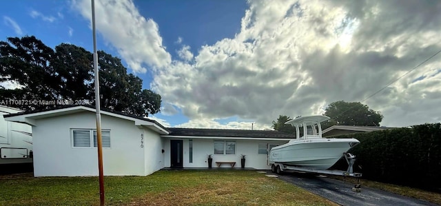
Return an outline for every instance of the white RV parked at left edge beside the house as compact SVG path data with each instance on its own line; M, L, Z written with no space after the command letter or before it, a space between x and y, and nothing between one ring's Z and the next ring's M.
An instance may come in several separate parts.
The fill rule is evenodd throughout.
M0 105L0 166L32 163L32 127L3 118L19 112L23 111Z

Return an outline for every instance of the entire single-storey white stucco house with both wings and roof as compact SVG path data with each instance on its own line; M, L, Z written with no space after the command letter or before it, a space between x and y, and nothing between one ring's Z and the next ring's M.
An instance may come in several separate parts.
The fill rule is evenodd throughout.
M94 107L72 105L4 116L32 126L34 176L98 176ZM147 176L164 167L208 167L236 162L269 169L267 151L293 138L271 130L164 127L156 121L101 111L103 170L106 176ZM221 164L220 167L231 167Z

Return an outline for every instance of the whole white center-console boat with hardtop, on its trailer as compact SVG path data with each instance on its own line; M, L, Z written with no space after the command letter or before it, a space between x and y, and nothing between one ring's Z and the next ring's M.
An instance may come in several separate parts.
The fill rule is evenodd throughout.
M287 121L285 124L296 128L296 138L285 145L271 148L271 170L275 172L286 166L294 166L297 170L329 169L342 156L347 158L348 164L349 160L355 161L355 156L347 154L347 151L360 141L356 138L323 138L320 123L328 119L328 116L314 115ZM352 169L347 172L349 170L352 172Z

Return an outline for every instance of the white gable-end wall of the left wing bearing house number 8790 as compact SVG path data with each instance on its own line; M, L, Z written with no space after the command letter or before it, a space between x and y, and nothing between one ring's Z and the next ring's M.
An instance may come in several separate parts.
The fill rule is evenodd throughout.
M34 176L98 176L97 149L74 148L71 134L71 129L96 128L95 119L94 112L81 112L37 120L37 126L32 127ZM104 114L101 114L101 128L110 130L110 148L103 147L104 175L152 173L145 167L147 148L140 147L140 135L147 129L139 129L134 121ZM147 136L153 138L144 138L144 145L157 144L154 135Z

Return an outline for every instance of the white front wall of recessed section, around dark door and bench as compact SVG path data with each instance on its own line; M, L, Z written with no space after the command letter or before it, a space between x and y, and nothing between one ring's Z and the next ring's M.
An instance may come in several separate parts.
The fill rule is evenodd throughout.
M240 154L245 154L245 167L254 169L271 169L267 165L267 154L258 154L258 144L283 145L288 141L261 141L261 140L228 140L209 138L163 138L165 143L165 167L170 167L170 140L183 140L183 167L208 167L207 154L213 154L212 167L217 167L216 161L236 162L234 167L240 167ZM193 140L193 163L189 163L188 140ZM236 141L236 154L214 154L214 141ZM222 164L220 167L231 167Z

